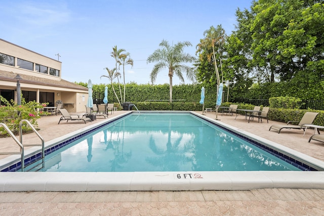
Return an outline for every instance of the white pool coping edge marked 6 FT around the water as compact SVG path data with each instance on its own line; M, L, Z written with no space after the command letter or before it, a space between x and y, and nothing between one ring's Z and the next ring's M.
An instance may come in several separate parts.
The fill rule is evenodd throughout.
M130 111L98 122L73 133L46 142L46 148L63 139L82 134L89 129L116 120L136 111ZM141 111L144 112L144 111ZM150 111L152 112L152 111ZM168 112L168 111L155 111ZM169 111L170 112L170 111ZM242 136L249 136L271 148L309 161L324 169L324 162L293 149L227 125L223 122L199 115L214 124ZM35 148L28 149L31 155ZM0 167L10 161L19 160L13 155L0 160ZM0 172L0 191L201 191L201 190L252 190L261 188L324 189L324 171L181 171L181 172Z

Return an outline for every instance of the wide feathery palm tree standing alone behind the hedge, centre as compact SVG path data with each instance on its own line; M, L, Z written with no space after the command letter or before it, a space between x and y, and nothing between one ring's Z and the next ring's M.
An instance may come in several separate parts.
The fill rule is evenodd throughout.
M193 67L183 65L181 63L193 62L195 57L189 54L183 53L183 48L191 47L189 41L178 42L174 46L170 46L169 42L162 40L159 46L161 49L157 49L147 58L147 63L156 62L150 73L150 79L153 83L156 79L158 72L167 68L169 69L169 79L170 79L170 102L172 102L172 77L176 74L179 79L184 82L182 72L186 72L187 78L191 81L195 81L195 74Z

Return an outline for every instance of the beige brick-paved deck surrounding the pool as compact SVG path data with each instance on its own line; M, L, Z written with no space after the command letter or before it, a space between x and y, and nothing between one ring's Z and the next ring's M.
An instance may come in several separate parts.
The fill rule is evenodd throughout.
M116 111L112 116L126 111ZM197 112L201 114L201 112ZM215 113L206 116L215 118ZM60 116L43 116L38 120L39 134L45 142L95 124L58 123ZM308 143L313 129L268 131L278 122L248 123L244 116L218 114L221 122L258 135L308 156L324 161L324 144ZM24 135L25 143L39 142L34 134ZM17 151L11 138L0 139L0 151ZM0 156L0 159L4 156ZM21 180L23 181L23 180ZM324 181L324 180L323 180ZM0 215L323 215L324 190L320 189L255 189L247 191L107 191L107 192L2 192Z

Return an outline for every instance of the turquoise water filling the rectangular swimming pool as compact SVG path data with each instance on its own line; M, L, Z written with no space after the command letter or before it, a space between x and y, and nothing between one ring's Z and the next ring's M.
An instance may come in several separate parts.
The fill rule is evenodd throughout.
M47 172L299 170L189 113L130 114L46 156Z

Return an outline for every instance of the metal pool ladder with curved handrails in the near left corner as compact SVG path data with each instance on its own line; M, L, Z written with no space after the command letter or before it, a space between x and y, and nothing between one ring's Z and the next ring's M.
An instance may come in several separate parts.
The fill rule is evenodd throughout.
M41 139L42 143L41 144L26 144L23 145L23 140L22 140L22 123L26 122L30 128L32 129L32 131L38 136L39 139ZM36 129L32 126L32 124L26 120L23 119L19 122L19 140L15 137L15 135L10 131L10 129L8 128L8 126L5 123L0 123L0 127L3 126L5 128L5 130L7 131L7 133L14 139L14 141L18 144L18 146L20 147L20 151L19 152L0 152L0 155L13 155L13 154L20 154L20 159L21 159L21 171L29 171L32 168L35 168L36 166L42 165L42 168L44 168L44 164L45 164L45 149L44 149L44 139L41 135L38 134L38 132L36 131ZM33 162L31 162L30 164L25 166L25 154L24 154L24 147L26 146L42 146L42 154L41 154L41 158L37 159ZM37 163L39 160L42 160L42 164ZM33 166L31 166L33 165ZM28 167L28 170L26 170L26 168Z

